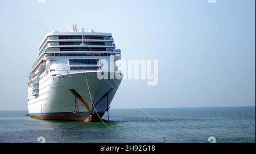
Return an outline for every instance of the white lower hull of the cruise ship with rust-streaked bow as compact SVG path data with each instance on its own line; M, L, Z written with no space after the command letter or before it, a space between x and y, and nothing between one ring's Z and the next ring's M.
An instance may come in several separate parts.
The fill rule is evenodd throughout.
M96 71L47 75L39 81L38 96L28 96L28 112L38 119L97 121L108 110L121 80L100 80Z

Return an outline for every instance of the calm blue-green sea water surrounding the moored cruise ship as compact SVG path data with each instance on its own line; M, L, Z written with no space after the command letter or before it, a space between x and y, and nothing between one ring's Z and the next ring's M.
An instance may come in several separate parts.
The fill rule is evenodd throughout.
M110 122L43 121L0 111L0 142L255 142L255 106L110 109ZM104 115L106 119L106 114Z

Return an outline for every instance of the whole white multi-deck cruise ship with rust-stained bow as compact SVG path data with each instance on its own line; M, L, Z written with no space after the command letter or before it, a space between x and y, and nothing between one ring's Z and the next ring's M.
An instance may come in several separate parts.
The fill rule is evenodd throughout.
M81 122L102 120L122 80L115 63L120 59L121 50L115 48L111 33L93 29L78 32L76 24L71 32L47 33L29 75L30 117ZM108 78L99 78L99 74Z

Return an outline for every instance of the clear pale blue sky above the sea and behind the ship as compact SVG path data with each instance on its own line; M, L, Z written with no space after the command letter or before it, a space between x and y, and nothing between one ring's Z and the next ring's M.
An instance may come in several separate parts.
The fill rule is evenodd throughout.
M159 59L159 82L123 80L112 108L255 105L255 1L0 1L0 110L27 109L47 32L111 32L123 59Z

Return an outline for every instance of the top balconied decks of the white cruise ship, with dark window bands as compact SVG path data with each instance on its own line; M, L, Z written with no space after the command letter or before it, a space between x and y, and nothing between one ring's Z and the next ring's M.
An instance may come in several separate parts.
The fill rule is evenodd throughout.
M51 32L39 45L39 58L44 54L120 54L111 33Z

